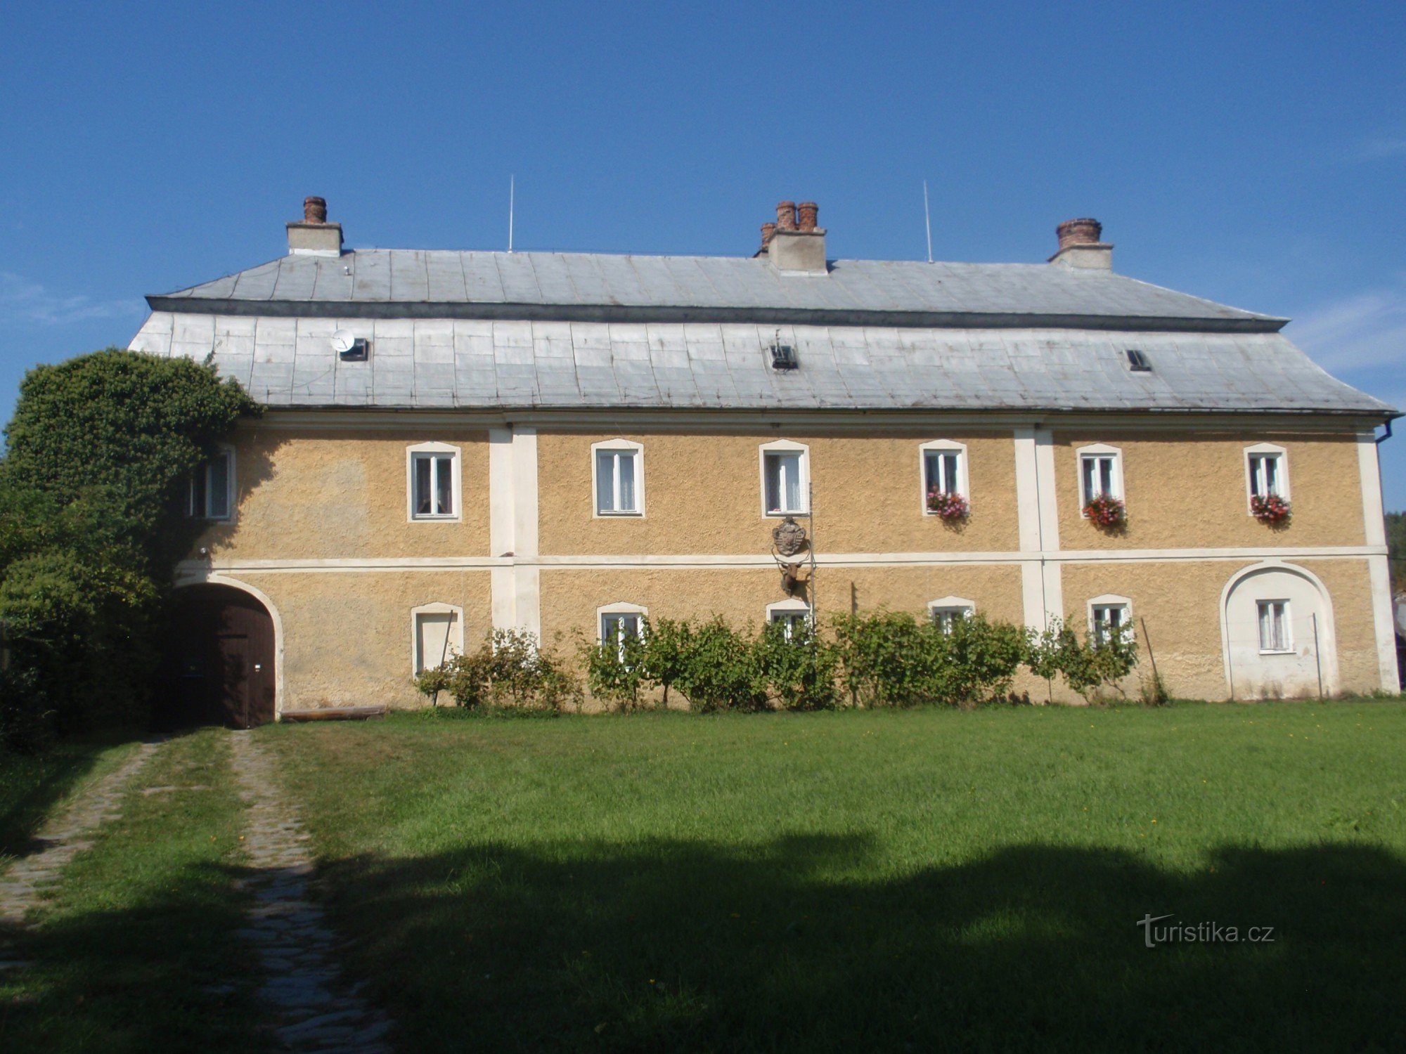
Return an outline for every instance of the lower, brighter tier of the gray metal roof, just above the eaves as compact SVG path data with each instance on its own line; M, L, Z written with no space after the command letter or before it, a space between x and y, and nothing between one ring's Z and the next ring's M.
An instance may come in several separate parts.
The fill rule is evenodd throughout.
M527 256L513 260L520 275L529 273L540 254ZM394 285L395 256L377 259L387 264L378 281ZM607 266L628 266L624 257L600 259L612 261L602 263L602 274ZM263 274L269 288L283 281L278 268L264 268ZM290 281L297 275L298 288L305 289L307 277L318 273L291 268L288 274ZM357 281L363 277L359 270ZM429 271L413 281L420 284L408 288L432 295L426 292L434 281ZM534 281L541 289L540 280ZM1064 281L1062 277L1060 282ZM1126 288L1123 281L1111 282L1107 277L1077 275L1067 281ZM1147 295L1164 294L1140 282L1129 285L1154 291ZM616 281L612 288L621 285ZM340 361L330 340L337 329L371 341L368 361ZM796 349L799 368L770 367L769 349L778 339ZM180 311L155 312L131 347L194 360L209 357L254 399L281 408L1288 410L1379 417L1396 413L1329 377L1275 332L1164 332L1136 325L1121 332L1005 326L778 327ZM1150 372L1128 368L1125 353L1130 347L1147 356Z

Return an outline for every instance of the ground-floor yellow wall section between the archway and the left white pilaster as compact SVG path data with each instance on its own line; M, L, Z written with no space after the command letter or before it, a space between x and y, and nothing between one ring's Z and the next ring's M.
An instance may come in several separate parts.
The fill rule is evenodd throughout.
M231 578L269 596L283 621L283 710L420 705L411 683L411 609L464 609L464 646L492 628L486 571L259 573Z

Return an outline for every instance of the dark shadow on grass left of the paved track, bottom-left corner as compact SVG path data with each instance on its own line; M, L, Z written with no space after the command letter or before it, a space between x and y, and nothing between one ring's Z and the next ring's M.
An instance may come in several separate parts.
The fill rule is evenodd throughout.
M0 1050L259 1051L253 953L243 915L221 901L229 868L200 864L139 906L0 929Z

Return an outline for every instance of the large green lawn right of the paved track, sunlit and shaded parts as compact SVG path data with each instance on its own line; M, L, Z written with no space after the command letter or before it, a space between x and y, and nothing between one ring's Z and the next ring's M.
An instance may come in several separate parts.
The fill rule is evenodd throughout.
M1406 1047L1399 703L260 735L406 1051Z

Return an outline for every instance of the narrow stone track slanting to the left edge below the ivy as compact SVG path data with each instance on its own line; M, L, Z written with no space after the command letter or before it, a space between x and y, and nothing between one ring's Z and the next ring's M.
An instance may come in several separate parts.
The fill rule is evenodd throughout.
M93 846L97 829L122 815L127 784L146 766L162 742L163 738L143 742L131 757L80 791L67 808L39 831L35 838L38 849L15 860L0 878L0 926L22 926L45 891L59 881L67 863Z

